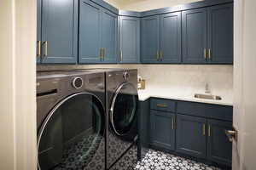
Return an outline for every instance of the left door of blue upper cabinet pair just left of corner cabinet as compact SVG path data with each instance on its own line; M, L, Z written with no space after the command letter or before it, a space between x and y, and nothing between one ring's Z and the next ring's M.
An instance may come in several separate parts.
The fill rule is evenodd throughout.
M101 63L102 8L82 0L79 11L79 63Z

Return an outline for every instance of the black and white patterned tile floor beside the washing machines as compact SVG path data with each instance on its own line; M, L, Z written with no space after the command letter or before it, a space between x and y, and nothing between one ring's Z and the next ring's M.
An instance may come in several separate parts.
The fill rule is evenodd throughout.
M148 150L142 161L137 161L136 148L132 148L111 170L220 170L156 150Z

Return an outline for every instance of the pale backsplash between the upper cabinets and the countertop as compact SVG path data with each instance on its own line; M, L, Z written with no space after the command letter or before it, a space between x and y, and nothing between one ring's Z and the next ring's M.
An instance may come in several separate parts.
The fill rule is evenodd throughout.
M233 65L38 65L38 71L82 68L137 68L147 87L168 88L183 94L204 93L232 97Z

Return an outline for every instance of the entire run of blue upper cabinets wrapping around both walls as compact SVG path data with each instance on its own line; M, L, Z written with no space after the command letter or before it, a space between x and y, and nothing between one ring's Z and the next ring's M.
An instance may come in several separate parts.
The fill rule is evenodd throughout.
M38 0L37 62L233 63L233 3L140 18L99 2Z

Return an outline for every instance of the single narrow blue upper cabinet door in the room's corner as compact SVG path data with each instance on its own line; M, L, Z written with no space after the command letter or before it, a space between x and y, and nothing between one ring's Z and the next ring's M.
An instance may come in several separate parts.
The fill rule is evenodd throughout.
M119 17L119 62L140 62L140 19Z

